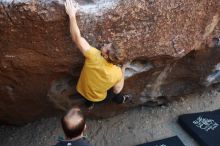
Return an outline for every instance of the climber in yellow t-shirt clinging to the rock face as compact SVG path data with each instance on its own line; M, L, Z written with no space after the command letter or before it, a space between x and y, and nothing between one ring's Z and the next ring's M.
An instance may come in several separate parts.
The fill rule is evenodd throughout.
M124 75L127 63L124 63L125 52L115 42L105 44L98 50L92 47L81 36L76 20L77 3L65 2L66 13L70 19L72 40L85 57L83 69L77 83L77 92L86 99L91 108L94 103L113 100L118 104L131 101L130 95L120 92L124 86ZM120 67L121 66L121 67Z

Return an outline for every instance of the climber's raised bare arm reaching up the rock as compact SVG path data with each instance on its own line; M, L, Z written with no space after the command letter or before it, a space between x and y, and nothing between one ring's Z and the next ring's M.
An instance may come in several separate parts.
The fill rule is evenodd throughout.
M81 36L79 27L76 21L77 6L72 0L66 0L65 2L66 13L70 18L70 33L73 41L76 43L80 51L85 54L91 47L89 43Z

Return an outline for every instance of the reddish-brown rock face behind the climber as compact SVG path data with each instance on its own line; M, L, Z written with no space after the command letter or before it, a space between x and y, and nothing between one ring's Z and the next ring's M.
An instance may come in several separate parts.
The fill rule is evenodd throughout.
M126 80L133 103L100 105L90 116L163 104L219 82L220 49L204 46L220 33L219 0L78 2L78 25L89 43L117 41L127 60L139 58L127 73L143 69ZM62 1L0 0L0 50L0 121L23 124L82 103L75 85L84 58Z

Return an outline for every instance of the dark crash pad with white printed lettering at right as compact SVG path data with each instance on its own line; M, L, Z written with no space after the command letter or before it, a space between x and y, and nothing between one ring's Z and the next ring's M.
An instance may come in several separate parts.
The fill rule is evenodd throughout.
M220 146L220 110L184 114L178 122L201 146Z

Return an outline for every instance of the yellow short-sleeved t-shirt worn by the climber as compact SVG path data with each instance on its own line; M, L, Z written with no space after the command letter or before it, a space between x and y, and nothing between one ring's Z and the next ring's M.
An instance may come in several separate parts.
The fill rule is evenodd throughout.
M101 51L93 47L84 56L86 59L76 89L89 101L102 101L107 90L122 79L121 68L108 63Z

